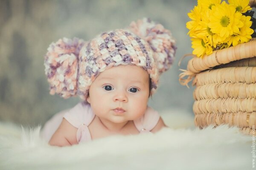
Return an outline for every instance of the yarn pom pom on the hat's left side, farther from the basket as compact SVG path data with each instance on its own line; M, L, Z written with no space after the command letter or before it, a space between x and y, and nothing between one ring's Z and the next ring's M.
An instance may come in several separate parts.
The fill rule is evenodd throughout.
M52 42L44 57L45 74L50 84L50 94L64 99L76 95L79 52L84 40L63 38Z

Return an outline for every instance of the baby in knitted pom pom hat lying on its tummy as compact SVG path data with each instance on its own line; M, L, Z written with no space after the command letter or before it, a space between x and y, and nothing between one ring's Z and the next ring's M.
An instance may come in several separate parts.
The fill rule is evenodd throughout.
M48 133L50 145L155 133L165 126L157 111L147 106L176 50L170 31L162 25L144 18L89 42L63 38L47 50L44 65L50 94L65 99L78 95L83 100L46 123L44 131L62 121L53 135Z

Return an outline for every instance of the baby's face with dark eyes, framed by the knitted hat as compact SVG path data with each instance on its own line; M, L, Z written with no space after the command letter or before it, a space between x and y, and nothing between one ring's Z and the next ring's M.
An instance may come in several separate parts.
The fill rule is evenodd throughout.
M119 65L106 69L96 77L90 86L87 101L101 119L122 123L145 113L148 96L147 71L136 65Z

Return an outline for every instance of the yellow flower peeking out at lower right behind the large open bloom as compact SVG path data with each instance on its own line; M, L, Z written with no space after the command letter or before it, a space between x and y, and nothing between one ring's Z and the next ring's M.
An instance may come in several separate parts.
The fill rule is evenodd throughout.
M238 44L248 42L252 38L251 34L253 34L254 31L250 28L250 26L252 25L252 21L250 21L250 19L250 16L242 16L241 21L244 23L244 26L240 28L240 34L234 34L230 37L230 39L228 40L229 46L231 44L233 46L236 46Z

